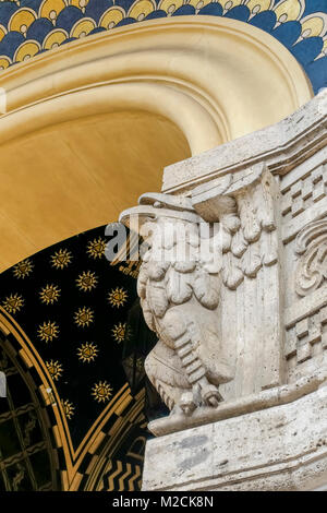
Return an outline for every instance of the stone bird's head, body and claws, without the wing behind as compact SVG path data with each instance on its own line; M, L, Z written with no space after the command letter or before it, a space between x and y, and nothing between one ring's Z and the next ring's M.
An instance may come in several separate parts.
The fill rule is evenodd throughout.
M170 409L180 406L191 414L199 404L217 406L219 383L232 379L219 339L221 260L215 258L219 234L209 238L208 258L201 260L202 219L190 200L145 194L140 203L141 207L128 211L128 216L136 213L148 219L149 248L143 255L137 291L145 320L159 337L147 357L146 372Z

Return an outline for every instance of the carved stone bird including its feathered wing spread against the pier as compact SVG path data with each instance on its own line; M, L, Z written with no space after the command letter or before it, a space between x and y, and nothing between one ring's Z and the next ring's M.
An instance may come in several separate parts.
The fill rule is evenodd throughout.
M143 227L137 293L146 323L159 338L145 370L172 413L217 407L219 384L233 379L228 341L221 338L221 286L235 289L244 276L255 277L276 262L270 239L267 244L261 237L275 229L270 195L261 208L255 201L262 181L262 172L252 178L251 191L244 183L225 183L215 196L218 223L211 211L208 219L198 215L191 199L160 193L142 195L140 206L120 216L128 226L137 216Z

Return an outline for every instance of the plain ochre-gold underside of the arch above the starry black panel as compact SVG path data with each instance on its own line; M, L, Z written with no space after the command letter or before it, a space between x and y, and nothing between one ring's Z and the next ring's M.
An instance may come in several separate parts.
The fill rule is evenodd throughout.
M175 124L120 111L51 127L1 147L1 267L114 222L165 166L191 156Z

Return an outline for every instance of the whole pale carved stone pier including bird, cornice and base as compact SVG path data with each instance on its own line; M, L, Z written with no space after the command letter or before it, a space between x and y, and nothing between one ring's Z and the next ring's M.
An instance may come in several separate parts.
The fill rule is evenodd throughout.
M171 409L149 423L144 490L326 486L326 126L324 91L167 167L162 193L121 216L153 227L138 278L159 338L146 370Z

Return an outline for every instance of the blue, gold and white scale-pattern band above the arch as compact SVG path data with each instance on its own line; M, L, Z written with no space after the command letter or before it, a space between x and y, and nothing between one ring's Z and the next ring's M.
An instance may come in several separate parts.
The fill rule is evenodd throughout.
M240 20L271 34L327 86L327 0L0 0L0 69L68 41L178 15Z

